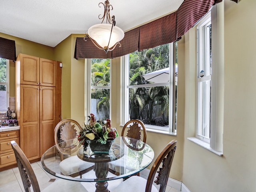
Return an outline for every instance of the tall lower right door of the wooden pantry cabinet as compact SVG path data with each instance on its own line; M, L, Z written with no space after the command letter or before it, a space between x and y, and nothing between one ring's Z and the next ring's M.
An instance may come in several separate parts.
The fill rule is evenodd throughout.
M40 86L40 155L53 146L55 128L55 87Z

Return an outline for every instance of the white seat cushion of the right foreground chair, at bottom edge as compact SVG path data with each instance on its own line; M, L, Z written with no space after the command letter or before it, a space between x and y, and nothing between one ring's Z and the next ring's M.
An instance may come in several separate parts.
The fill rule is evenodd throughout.
M146 190L147 180L139 177L139 176L132 176L118 185L114 190L111 192L145 192ZM152 185L151 192L158 192L157 188Z

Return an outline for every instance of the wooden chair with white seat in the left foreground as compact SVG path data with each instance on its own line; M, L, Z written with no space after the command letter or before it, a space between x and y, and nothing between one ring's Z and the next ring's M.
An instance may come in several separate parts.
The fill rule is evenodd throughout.
M34 170L28 161L28 158L24 152L20 149L15 141L11 141L12 149L14 150L18 169L20 171L21 180L25 189L25 192L30 192L31 188L34 192L40 192L38 181ZM65 191L85 191L88 192L80 182L58 179L46 188L42 192L65 192Z

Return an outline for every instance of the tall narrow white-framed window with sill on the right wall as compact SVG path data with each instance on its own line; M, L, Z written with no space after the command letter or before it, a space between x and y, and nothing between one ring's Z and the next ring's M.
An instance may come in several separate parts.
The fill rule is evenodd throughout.
M197 128L188 138L222 156L224 116L224 8L213 6L197 27ZM217 22L218 17L218 22ZM203 141L203 142L202 142Z

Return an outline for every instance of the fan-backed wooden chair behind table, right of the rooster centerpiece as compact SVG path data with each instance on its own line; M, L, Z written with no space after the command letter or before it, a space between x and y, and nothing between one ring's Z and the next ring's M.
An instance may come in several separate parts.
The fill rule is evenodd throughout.
M124 127L122 129L121 136L134 138L136 140L140 140L140 141L143 141L144 143L146 143L147 132L146 132L144 123L138 119L132 119L132 120L126 122L126 124L124 124ZM133 149L135 149L136 143L134 143L134 146L128 146L128 147L130 147L130 148L132 147ZM118 164L120 164L120 161L123 161L123 159L120 158L113 162L109 162L109 171L111 173L119 174L118 170L116 170L116 167L120 168L119 166L117 166ZM136 175L139 176L140 173L138 172Z

